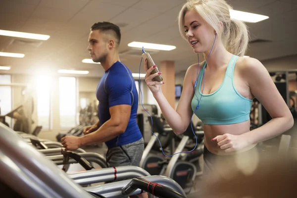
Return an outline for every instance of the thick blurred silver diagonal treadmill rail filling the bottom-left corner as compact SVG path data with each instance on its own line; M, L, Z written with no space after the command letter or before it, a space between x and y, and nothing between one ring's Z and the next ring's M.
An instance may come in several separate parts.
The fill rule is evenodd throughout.
M0 123L0 180L26 198L92 198L52 161Z

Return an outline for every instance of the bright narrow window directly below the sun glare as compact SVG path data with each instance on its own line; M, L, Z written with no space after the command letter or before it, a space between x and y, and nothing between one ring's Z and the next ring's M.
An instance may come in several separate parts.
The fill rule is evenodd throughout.
M38 76L36 79L38 125L43 131L51 130L50 91L52 79L49 76Z

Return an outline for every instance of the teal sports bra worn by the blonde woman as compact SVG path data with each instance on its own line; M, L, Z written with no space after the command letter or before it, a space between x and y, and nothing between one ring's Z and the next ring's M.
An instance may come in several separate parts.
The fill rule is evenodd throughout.
M249 120L252 99L243 97L234 86L234 67L238 56L233 55L221 86L214 93L201 94L201 82L206 62L200 69L191 106L197 117L207 125L235 124ZM199 101L199 105L198 105ZM197 107L198 106L198 107ZM197 108L197 110L196 110Z

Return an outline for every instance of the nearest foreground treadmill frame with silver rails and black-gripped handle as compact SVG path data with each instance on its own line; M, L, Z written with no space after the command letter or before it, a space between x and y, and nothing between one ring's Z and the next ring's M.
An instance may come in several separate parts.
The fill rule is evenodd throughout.
M162 176L83 188L3 123L0 123L0 145L0 189L8 197L121 198L146 191L159 198L186 198L175 181Z

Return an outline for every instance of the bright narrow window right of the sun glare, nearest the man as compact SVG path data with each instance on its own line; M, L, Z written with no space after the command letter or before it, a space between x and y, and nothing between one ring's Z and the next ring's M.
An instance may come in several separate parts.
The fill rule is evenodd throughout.
M76 79L59 77L60 127L69 129L76 126Z

